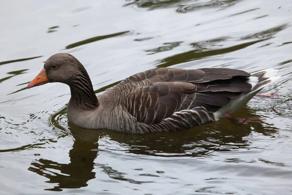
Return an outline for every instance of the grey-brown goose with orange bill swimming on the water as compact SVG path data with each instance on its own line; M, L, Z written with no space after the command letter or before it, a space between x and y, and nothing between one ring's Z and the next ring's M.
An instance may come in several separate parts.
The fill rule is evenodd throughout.
M87 129L124 133L168 132L218 120L244 106L278 77L228 68L154 68L137 73L96 97L78 59L51 56L28 88L48 82L69 85L68 119Z

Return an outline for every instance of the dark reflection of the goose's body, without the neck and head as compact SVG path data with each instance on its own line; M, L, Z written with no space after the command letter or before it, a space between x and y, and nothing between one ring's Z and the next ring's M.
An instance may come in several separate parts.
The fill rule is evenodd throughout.
M239 112L235 117L258 117L247 108L243 108ZM229 120L221 119L187 131L144 135L125 135L107 131L103 134L113 141L123 143L123 146L127 144L127 152L137 155L209 157L215 151L224 152L248 148L251 143L244 140L243 137L251 133L251 127L255 129L254 131L266 136L273 136L276 133L275 128L267 129L262 124L264 123L251 122L236 126ZM97 132L96 134L99 135ZM122 149L125 148L121 146Z

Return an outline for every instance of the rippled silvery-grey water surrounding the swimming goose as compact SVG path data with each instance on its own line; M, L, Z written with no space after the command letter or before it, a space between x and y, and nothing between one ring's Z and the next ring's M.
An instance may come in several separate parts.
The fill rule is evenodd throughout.
M291 0L4 0L0 6L1 195L292 194ZM96 93L154 67L279 69L234 117L187 131L124 135L68 122L70 90L28 90L59 52Z

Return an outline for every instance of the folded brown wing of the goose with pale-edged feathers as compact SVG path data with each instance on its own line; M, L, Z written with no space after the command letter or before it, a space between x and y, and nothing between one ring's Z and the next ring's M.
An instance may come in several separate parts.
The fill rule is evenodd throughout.
M129 93L121 102L139 122L157 124L175 112L204 107L215 112L248 92L247 72L227 68L155 68L135 74L119 85Z

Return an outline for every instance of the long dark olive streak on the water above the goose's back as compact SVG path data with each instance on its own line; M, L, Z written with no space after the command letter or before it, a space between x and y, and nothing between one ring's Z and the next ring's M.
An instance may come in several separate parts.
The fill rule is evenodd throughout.
M195 42L195 43L190 43L190 45L192 47L194 47L195 49L188 51L188 52L185 52L185 53L181 53L181 54L177 54L174 56L170 56L170 57L161 59L159 61L159 64L157 65L157 67L168 67L171 65L175 65L175 64L179 64L179 63L183 63L183 62L187 62L187 61L207 58L207 57L211 57L211 56L216 56L216 55L225 54L225 53L237 51L240 49L244 49L244 48L251 46L253 44L256 44L258 42L273 38L273 36L276 33L286 29L287 27L289 27L288 24L282 24L282 25L275 26L273 28L258 32L258 33L246 35L246 36L241 37L241 38L220 37L220 38L216 38L216 39L203 40L203 41L199 41L199 42ZM223 43L223 42L226 42L228 40L229 41L230 40L237 41L237 40L249 40L249 39L253 39L253 40L250 42L237 44L237 45L231 46L231 47L222 48L223 44L220 44L221 42Z

